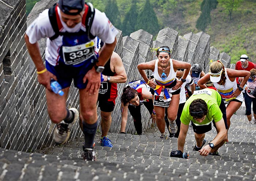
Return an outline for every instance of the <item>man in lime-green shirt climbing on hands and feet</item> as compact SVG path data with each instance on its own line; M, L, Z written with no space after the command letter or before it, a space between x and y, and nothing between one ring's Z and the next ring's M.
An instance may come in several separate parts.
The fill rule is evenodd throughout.
M194 91L184 105L180 120L178 150L183 152L189 122L192 121L196 139L193 150L199 151L202 156L219 155L219 147L227 140L227 118L224 101L216 90L206 88ZM217 130L217 136L204 146L206 143L204 136L211 130L211 122Z

